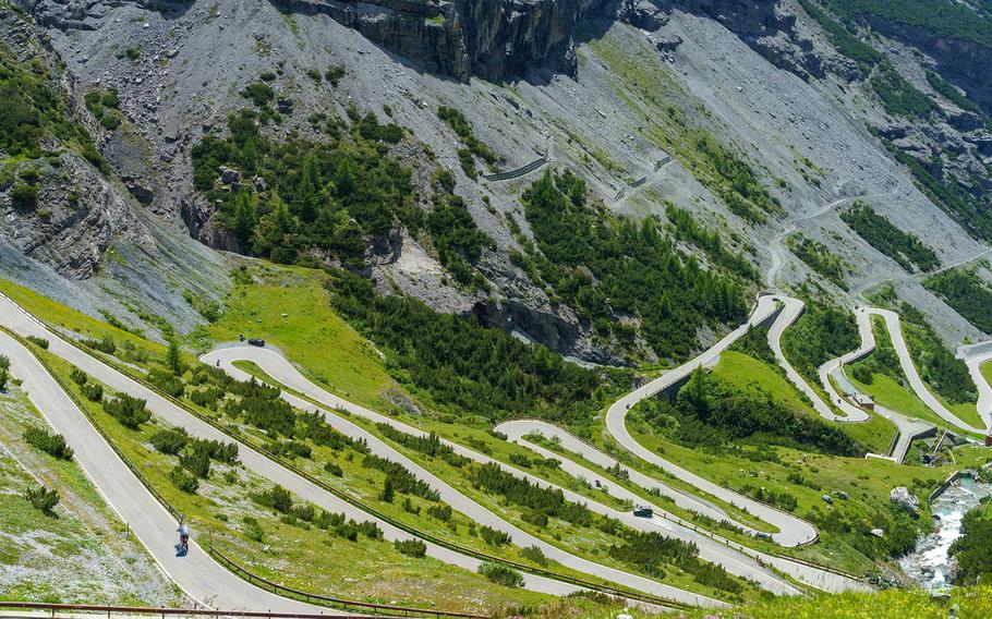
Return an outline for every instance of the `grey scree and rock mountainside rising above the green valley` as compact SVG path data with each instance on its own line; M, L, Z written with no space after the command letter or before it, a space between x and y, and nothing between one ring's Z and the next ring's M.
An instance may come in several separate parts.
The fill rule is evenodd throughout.
M277 145L291 135L319 144L334 143L337 132L347 139L364 131L358 120L372 112L377 124L406 130L399 142L384 143L385 153L411 171L410 198L424 217L434 208L433 179L445 168L471 216L463 221L468 227L446 239L440 232L455 220L433 230L402 217L375 230L365 227L364 248L355 257L380 291L473 314L590 361L681 354L673 347L645 347L643 316L618 308L606 317L630 323L633 339L604 337L580 303L561 303L562 291L513 258L525 256L529 243L541 244L520 203L534 174L508 181L480 174L524 166L546 153L552 167L584 180L603 214L652 216L664 229L670 201L716 231L727 252L742 253L765 279L790 284L814 272L783 247L794 229L801 230L847 265L844 288L858 292L895 279L899 293L930 314L946 338L981 337L839 215L860 197L933 248L942 265L981 255L985 246L976 238L984 235L981 205L988 199L981 181L983 112L964 109L969 99L953 86L928 81L926 71L942 71L940 63L926 52L922 60L907 53L895 39L871 39L873 51L863 52L888 59L883 64L894 73L866 71L844 38L866 23L851 20L840 3L560 2L541 13L537 3L524 2L511 17L500 2L471 13L458 2L427 2L418 9L423 14L376 2L356 21L349 17L355 13L339 11L343 3L329 1L23 3L51 34L77 97L95 88L117 90L124 122L99 130L101 149L121 184L169 222L172 232L166 234L177 243L184 243L178 238L185 227L217 248L258 251L249 232L239 240L233 230L242 186L254 205L246 220L264 221L281 201L306 222L292 196L283 195L286 186L275 187L277 199L273 178L262 174L262 189L247 173L239 178L237 161L226 163L234 170L227 179L233 187L220 169L210 179L209 167L201 187L213 180L213 190L192 182L194 147L205 136L231 135L229 114L262 112L258 131ZM459 33L456 22L463 24ZM460 38L450 39L452 33ZM534 45L508 44L525 35ZM498 60L497 48L506 50ZM450 58L452 49L464 50L468 60ZM447 64L438 54L448 54ZM491 83L473 73L506 81ZM270 112L243 95L252 84L270 90L252 86ZM895 104L892 88L898 90ZM899 106L907 101L924 101L921 109L930 111L904 113ZM441 118L443 108L457 117ZM293 173L293 166L283 171ZM355 211L349 213L354 219ZM356 221L365 226L362 217ZM472 228L491 241L480 236L467 247L461 241L474 234ZM453 250L452 239L459 241ZM676 241L704 269L735 280L746 293L763 283L727 271L714 257L719 254L698 238ZM334 251L307 252L281 259L305 254L306 260L340 264ZM842 288L819 281L847 299ZM593 284L607 288L595 277ZM700 343L723 328L712 318L691 327Z

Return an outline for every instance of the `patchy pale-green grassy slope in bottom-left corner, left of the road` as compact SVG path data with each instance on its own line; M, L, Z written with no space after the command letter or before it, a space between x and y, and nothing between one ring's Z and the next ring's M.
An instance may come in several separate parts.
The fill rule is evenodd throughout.
M49 428L13 381L0 391L0 599L178 605L183 594L107 507L83 471L23 439ZM61 495L51 517L24 498L40 480Z

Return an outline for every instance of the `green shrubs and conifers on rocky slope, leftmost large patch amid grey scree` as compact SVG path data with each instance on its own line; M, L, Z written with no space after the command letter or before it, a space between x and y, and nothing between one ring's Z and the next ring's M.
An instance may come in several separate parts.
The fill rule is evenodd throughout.
M484 286L471 265L493 241L452 193L450 171L438 172L428 207L416 204L409 170L389 156L389 146L404 138L403 130L351 109L350 124L312 119L324 141L291 133L276 142L263 133L269 122L264 95L255 101L262 111L231 114L227 137L207 135L192 151L196 189L220 201L221 221L245 251L277 263L318 266L316 252L361 267L368 239L402 224L432 240L457 281ZM218 185L221 166L239 170L244 186ZM256 175L267 192L247 189Z

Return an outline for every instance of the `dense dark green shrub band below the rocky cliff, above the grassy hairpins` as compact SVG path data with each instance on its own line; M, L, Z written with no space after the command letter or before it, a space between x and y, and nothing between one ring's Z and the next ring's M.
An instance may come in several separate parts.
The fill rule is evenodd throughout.
M388 351L394 378L449 412L491 422L532 415L571 422L591 416L601 388L609 386L600 372L567 363L543 345L525 344L474 317L378 294L348 271L335 275L330 290L334 307Z

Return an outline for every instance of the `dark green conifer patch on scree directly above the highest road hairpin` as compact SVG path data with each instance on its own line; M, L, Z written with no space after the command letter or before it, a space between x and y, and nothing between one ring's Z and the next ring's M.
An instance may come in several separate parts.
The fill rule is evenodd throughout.
M601 338L631 348L638 330L618 317L636 317L657 356L683 357L701 327L746 314L733 279L680 254L653 219L637 223L594 207L585 183L568 170L545 172L524 192L523 206L536 246L525 245L516 262Z

